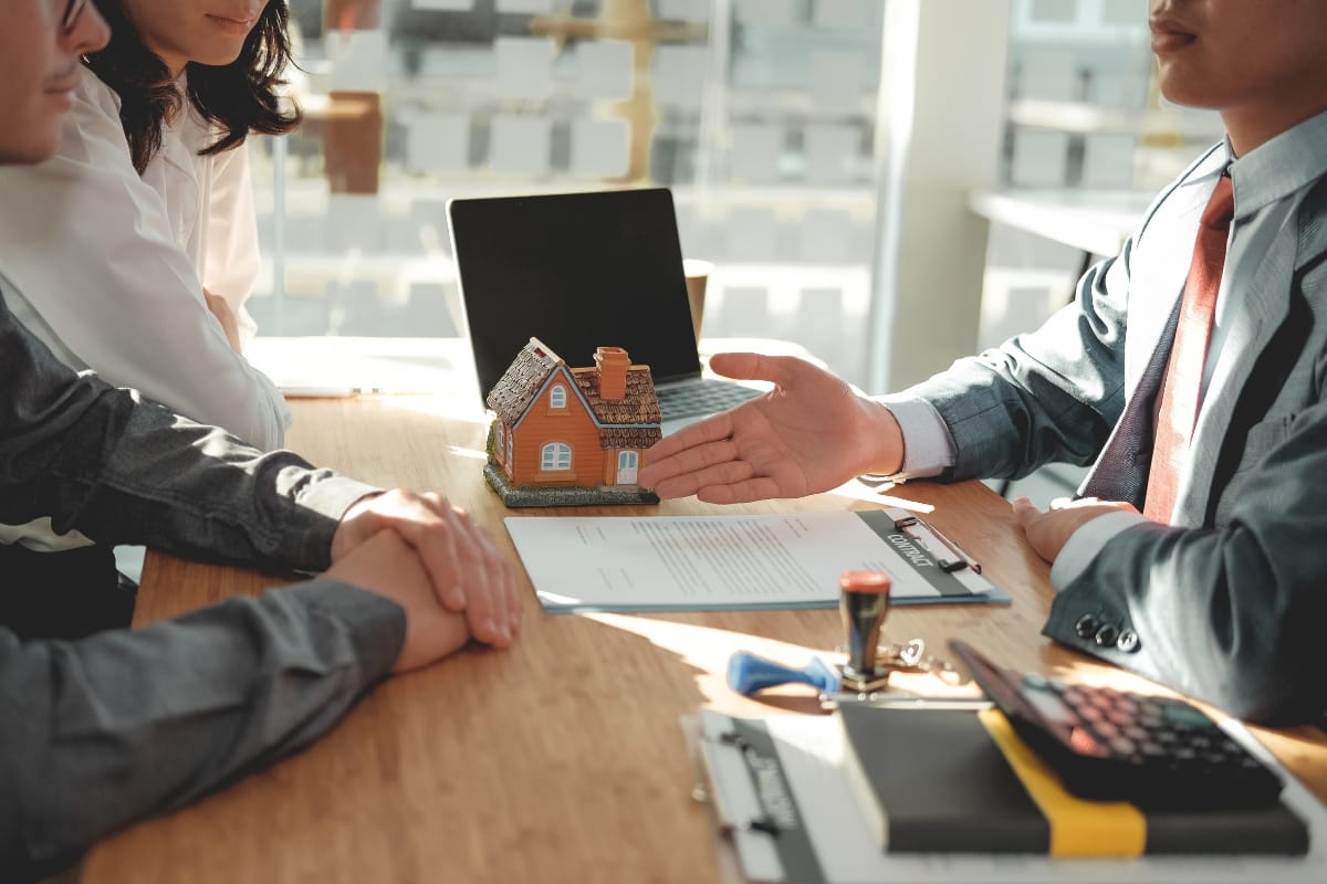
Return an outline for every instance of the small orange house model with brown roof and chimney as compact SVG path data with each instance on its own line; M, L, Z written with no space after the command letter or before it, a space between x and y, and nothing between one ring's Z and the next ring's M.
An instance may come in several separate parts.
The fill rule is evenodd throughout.
M531 338L484 402L495 415L484 476L508 506L658 502L636 484L662 435L654 379L621 347L569 368Z

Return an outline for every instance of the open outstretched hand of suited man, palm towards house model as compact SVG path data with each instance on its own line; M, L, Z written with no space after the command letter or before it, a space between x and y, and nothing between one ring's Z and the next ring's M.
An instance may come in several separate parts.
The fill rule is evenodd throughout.
M902 464L893 415L809 362L721 353L710 368L775 386L645 452L640 485L660 497L695 494L710 504L804 497Z

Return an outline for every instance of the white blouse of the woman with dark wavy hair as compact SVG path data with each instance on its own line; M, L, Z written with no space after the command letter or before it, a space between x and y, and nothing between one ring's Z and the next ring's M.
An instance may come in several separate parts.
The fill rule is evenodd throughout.
M248 151L199 156L212 140L186 103L139 176L119 97L84 69L58 154L0 168L0 285L13 314L69 366L279 448L285 400L231 350L203 297L204 286L224 297L252 337Z

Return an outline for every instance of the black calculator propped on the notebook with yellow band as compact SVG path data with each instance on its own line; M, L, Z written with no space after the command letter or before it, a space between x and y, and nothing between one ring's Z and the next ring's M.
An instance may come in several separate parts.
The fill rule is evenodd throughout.
M1262 807L1281 795L1277 773L1193 704L1002 669L957 639L950 648L1080 798L1214 810Z

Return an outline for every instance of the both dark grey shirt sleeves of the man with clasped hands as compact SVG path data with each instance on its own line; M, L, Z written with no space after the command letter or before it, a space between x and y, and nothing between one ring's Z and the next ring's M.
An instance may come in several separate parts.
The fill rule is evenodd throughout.
M50 516L104 542L320 569L345 508L373 490L76 376L3 298L0 384L3 522ZM0 877L305 745L403 637L397 604L326 579L76 643L20 644L0 626Z

